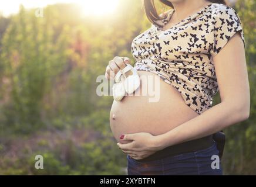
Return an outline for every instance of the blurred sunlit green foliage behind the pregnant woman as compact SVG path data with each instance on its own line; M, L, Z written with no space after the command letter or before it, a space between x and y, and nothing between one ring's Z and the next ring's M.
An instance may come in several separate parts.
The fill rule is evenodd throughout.
M112 96L96 95L96 77L114 56L133 59L133 38L150 27L141 8L140 1L120 0L119 13L104 18L84 18L66 4L47 6L43 18L23 6L0 16L1 175L126 174L109 127ZM255 175L256 3L240 0L234 9L244 27L251 113L225 130L223 168L225 175ZM44 169L35 169L36 154Z

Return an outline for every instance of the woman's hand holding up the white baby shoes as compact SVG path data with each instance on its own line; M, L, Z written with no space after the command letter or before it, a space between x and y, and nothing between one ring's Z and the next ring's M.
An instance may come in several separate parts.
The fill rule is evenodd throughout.
M130 58L128 57L114 57L113 60L109 61L109 65L106 67L105 77L107 79L114 79L114 75L119 70L123 70L126 64L130 64Z

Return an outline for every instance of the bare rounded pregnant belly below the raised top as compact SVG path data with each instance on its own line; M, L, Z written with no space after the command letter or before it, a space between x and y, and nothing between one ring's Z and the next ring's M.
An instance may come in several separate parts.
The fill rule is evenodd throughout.
M121 134L148 132L163 134L196 117L193 109L184 103L180 92L153 72L137 71L140 88L122 101L113 101L110 111L110 128L121 143ZM150 90L150 91L148 91Z

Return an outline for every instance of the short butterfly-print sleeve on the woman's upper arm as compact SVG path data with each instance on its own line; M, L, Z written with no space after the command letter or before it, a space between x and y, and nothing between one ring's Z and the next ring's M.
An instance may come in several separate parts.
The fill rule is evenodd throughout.
M211 56L220 53L221 49L228 43L235 33L240 33L244 43L244 32L242 30L241 20L235 10L229 6L224 6L225 9L219 10L215 15L214 20L214 45L211 49Z

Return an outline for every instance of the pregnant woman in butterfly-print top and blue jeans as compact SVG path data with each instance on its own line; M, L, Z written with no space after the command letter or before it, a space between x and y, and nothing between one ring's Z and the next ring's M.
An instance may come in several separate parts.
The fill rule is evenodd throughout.
M144 0L152 24L132 41L140 77L134 93L159 82L159 98L149 102L150 94L133 94L114 100L111 130L127 154L128 175L221 175L213 134L250 113L240 18L220 0L160 2L171 9L158 15L154 1ZM109 79L130 63L116 59L107 65ZM218 91L221 102L211 107Z

